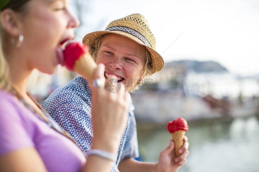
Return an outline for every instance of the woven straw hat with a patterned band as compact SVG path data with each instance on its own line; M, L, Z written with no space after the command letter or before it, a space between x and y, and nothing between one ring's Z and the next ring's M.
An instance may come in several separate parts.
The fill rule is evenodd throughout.
M155 37L149 29L147 20L141 14L131 14L112 21L104 31L96 31L87 34L83 38L83 44L92 48L95 46L96 38L106 33L122 35L145 46L151 55L153 68L152 74L161 71L164 68L164 59L157 51L155 51Z

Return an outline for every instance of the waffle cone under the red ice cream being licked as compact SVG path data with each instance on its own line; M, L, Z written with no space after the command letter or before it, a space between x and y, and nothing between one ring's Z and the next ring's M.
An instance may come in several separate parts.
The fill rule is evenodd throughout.
M90 55L90 53L83 54L79 59L75 61L73 65L73 70L86 77L91 82L94 80L94 72L97 65Z

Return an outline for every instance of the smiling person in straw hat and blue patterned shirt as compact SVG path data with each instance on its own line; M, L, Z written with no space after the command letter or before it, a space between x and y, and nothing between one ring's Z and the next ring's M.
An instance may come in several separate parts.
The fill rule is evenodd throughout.
M145 76L164 68L163 58L155 51L154 35L147 20L140 14L112 21L104 31L87 34L83 43L90 47L90 53L97 64L105 64L103 75L115 75L116 80L125 85L126 92L141 84ZM108 78L108 81L112 83L114 80ZM84 152L88 152L91 147L91 124L95 123L94 120L91 122L91 90L88 88L88 80L77 77L66 86L56 89L42 104L55 121L73 135ZM189 154L187 137L178 157L174 156L174 144L170 140L170 144L161 152L158 163L139 162L134 159L139 156L139 152L134 106L131 99L129 101L128 122L120 148L116 152L117 158L112 164L112 172L178 170L185 164Z

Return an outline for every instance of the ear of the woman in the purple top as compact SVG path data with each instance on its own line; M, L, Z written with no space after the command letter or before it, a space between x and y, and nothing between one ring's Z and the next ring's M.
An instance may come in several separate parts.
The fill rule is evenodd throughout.
M1 23L6 32L12 36L21 34L20 17L11 9L5 9L1 12Z

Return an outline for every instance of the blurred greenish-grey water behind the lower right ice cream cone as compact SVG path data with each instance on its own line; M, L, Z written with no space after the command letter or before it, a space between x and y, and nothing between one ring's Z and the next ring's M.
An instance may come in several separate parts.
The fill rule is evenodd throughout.
M142 161L157 162L171 135L163 128L138 128ZM258 172L259 120L257 117L190 123L187 162L179 172Z

